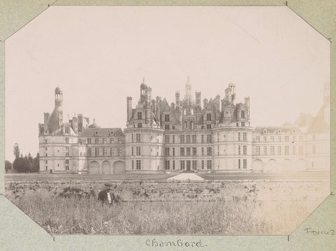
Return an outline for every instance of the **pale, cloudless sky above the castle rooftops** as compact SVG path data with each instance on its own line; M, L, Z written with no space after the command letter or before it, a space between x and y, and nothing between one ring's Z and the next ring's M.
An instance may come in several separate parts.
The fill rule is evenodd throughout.
M286 6L52 6L6 40L6 159L38 151L38 123L63 90L66 115L126 126L126 97L202 99L235 83L251 125L316 115L330 83L330 43Z

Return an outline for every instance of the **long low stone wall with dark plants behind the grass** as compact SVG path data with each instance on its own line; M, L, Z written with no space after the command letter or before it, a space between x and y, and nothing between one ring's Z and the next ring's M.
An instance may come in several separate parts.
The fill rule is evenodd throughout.
M104 184L123 201L323 201L330 194L327 180L127 180L127 181L8 181L8 199L20 196L81 194L97 197Z

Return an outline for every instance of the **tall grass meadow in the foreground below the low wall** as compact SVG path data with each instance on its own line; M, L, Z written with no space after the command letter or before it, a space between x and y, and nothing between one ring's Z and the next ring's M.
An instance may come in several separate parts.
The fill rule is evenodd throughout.
M307 201L134 201L24 196L13 203L50 234L290 234L316 205Z

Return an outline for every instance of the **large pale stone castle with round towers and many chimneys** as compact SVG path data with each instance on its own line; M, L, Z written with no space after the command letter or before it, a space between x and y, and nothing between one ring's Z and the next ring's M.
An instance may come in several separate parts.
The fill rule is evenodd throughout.
M290 173L330 168L330 89L315 117L301 114L292 124L251 127L250 99L236 103L235 85L225 96L203 99L191 91L175 102L151 97L141 83L135 108L127 97L127 124L100 128L82 114L63 121L63 93L38 124L40 173L130 172ZM202 103L201 103L202 102Z

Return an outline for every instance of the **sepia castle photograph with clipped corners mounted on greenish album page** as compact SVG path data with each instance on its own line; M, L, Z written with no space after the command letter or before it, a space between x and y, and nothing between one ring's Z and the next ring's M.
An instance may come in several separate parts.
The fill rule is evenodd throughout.
M5 62L5 195L52 235L289 235L330 194L330 41L287 6L50 6Z

